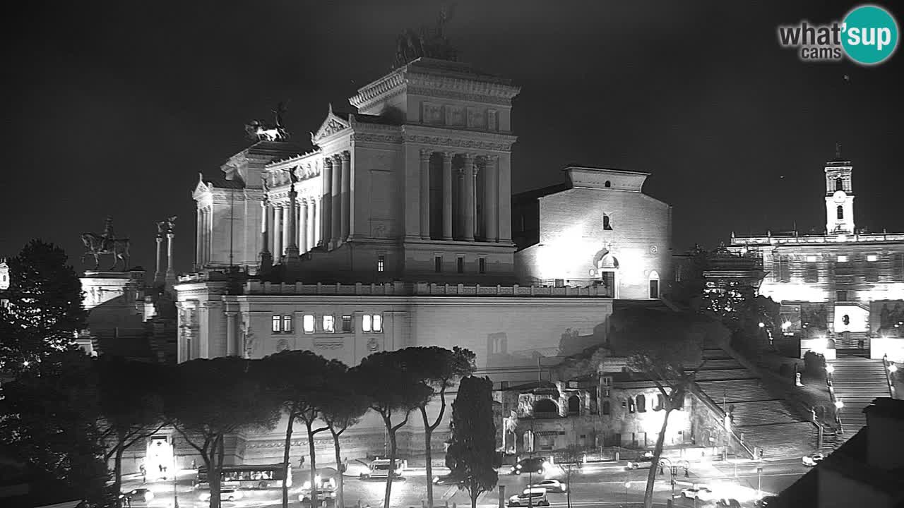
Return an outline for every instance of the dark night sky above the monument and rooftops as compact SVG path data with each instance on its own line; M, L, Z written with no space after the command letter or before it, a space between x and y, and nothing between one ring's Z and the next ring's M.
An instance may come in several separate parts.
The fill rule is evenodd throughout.
M176 269L191 269L198 172L247 146L246 121L291 99L287 125L307 142L327 103L388 71L396 35L440 2L21 4L6 13L0 256L40 237L78 258L79 234L110 214L153 272L168 215ZM836 142L855 165L858 225L904 230L904 54L864 68L777 44L778 24L854 5L463 0L447 33L461 60L522 87L515 192L559 183L570 163L652 173L645 191L673 205L683 250L822 227Z

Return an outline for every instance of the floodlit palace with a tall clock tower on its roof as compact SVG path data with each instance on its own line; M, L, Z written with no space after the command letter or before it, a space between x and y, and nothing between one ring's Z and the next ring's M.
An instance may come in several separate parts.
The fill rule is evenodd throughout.
M801 354L904 361L904 233L856 227L851 161L838 155L824 174L824 234L732 234L730 249L762 258L759 292L782 305L782 331L801 338Z

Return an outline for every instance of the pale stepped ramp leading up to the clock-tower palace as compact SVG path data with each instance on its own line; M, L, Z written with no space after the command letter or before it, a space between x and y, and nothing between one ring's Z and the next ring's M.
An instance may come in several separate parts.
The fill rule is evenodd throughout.
M835 400L843 402L839 410L846 440L866 426L863 409L879 397L891 397L885 366L881 360L839 357L828 362L834 367L832 384Z

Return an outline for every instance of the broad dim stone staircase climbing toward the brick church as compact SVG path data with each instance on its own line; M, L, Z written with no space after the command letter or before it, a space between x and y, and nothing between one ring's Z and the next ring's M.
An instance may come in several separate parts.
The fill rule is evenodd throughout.
M802 456L813 450L815 426L796 416L754 372L718 348L703 350L703 358L706 363L697 372L697 386L732 414L735 434L747 447L761 447L766 458Z

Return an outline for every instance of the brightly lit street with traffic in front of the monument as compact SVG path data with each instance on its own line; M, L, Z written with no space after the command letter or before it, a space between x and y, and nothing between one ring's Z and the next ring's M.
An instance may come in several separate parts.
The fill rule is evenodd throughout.
M782 491L788 485L794 483L803 475L807 468L801 465L800 458L788 458L785 460L767 461L760 463L762 472L758 474L758 463L751 460L727 461L727 462L695 462L691 463L689 475L685 477L683 467L678 468L675 476L674 491L670 484L670 472L666 467L664 474L656 475L654 488L655 501L663 506L666 500L673 495L675 506L712 506L712 503L692 500L681 497L681 491L693 484L706 485L711 488L716 496L730 497L739 500L744 506L752 506L757 497L758 486L763 494L773 494ZM518 494L530 484L545 478L566 479L566 473L558 466L552 468L547 475L511 475L508 468L500 471L499 484L504 485L504 495ZM447 470L435 468L434 475L444 475ZM626 503L638 503L643 500L647 477L647 470L638 469L626 471L624 463L587 464L575 470L570 478L570 493L572 506L619 506ZM200 500L200 493L191 488L193 472L184 470L180 473L178 483L178 495L180 508L201 508L207 503ZM426 500L426 472L423 468L415 468L405 472L404 479L396 480L392 485L391 506L394 507L419 507ZM361 480L354 476L345 477L345 504L347 506L371 506L376 508L382 504L382 496L385 484L380 480ZM142 485L140 478L137 482L129 479L124 482L123 491L145 486L155 493L155 499L150 503L133 503L133 506L147 506L148 508L168 508L173 505L173 482L155 481ZM268 491L243 491L243 499L235 502L223 502L223 508L254 508L259 506L273 506L280 503L279 490ZM478 499L478 505L482 508L498 506L499 489L492 493L484 494ZM567 506L566 494L548 494L551 507L561 508ZM449 506L469 505L470 501L465 492L459 492L456 486L436 485L434 487L435 504ZM299 506L298 486L290 489L289 500L292 505Z

